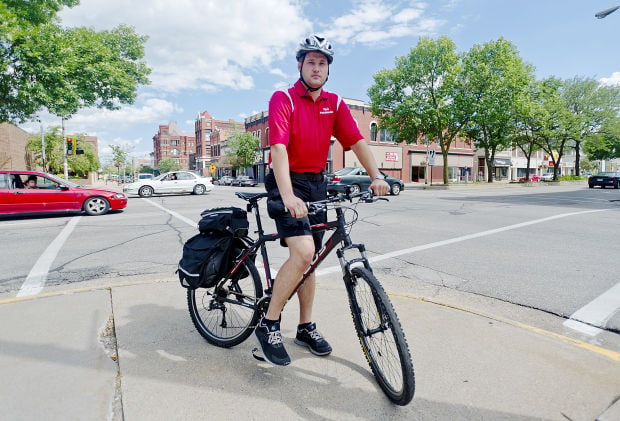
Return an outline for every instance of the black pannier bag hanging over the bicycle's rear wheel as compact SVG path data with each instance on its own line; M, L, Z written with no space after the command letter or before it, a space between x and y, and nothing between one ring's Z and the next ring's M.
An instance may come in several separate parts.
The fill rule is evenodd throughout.
M196 234L183 245L178 274L181 286L212 288L231 269L236 238L247 235L247 212L239 208L207 209Z

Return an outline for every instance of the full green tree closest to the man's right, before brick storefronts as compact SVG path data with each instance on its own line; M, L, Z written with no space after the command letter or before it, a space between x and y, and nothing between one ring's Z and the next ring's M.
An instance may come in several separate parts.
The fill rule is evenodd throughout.
M368 89L371 111L398 142L417 143L428 135L441 148L443 181L448 184L448 153L470 117L459 82L460 58L448 37L422 38L393 69L374 75Z

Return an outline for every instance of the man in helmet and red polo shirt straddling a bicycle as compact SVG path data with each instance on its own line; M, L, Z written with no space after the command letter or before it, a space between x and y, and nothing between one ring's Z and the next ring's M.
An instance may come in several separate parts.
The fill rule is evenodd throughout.
M282 308L321 246L322 234L313 237L310 226L325 222L327 215L308 216L305 202L327 197L324 169L331 137L355 153L372 178L374 194L383 196L389 189L349 108L338 95L323 89L333 57L327 39L310 35L296 54L299 80L292 88L275 92L269 101L267 207L283 238L282 245L289 248L289 257L278 271L269 308L255 335L264 358L275 365L291 362L280 332ZM332 348L312 322L315 285L312 274L297 292L300 313L295 343L324 356Z

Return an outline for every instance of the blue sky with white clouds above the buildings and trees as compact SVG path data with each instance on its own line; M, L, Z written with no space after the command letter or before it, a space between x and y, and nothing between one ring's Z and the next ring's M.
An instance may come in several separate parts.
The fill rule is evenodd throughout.
M194 132L200 112L243 121L267 110L275 90L299 77L295 52L308 34L334 48L325 89L369 101L373 75L393 68L420 37L450 37L459 52L503 37L538 78L588 77L620 85L620 10L594 14L620 0L81 0L59 14L67 27L119 24L147 35L151 83L119 110L84 109L65 122L68 133L99 139L143 158L160 124L174 120ZM44 128L60 125L43 115ZM22 128L38 133L40 125Z

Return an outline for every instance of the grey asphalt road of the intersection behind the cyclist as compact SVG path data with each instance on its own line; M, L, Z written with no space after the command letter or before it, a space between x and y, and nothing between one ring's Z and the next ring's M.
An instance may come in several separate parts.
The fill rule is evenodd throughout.
M125 211L98 217L2 218L0 294L175 278L200 212L243 207L238 190L132 197ZM540 320L528 320L533 325L572 316L583 323L566 327L580 338L617 341L619 190L546 183L409 189L358 211L352 236L366 244L378 274L540 310ZM277 245L270 250L277 268L286 252ZM322 270L336 265L332 256Z

